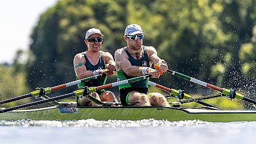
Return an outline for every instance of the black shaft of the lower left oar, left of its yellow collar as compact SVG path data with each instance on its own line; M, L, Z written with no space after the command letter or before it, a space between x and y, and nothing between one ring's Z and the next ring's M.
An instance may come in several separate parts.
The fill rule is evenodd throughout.
M7 109L0 110L0 113L10 112L10 111L12 111L12 110L22 109L22 108L26 108L26 107L34 106L34 105L38 105L38 104L48 103L48 102L54 101L54 100L65 99L65 98L67 98L67 97L71 97L71 96L74 96L74 95L75 95L75 93L72 92L72 93L70 93L70 94L60 95L60 96L52 97L52 98L50 98L50 99L39 100L39 101L35 101L35 102L32 102L32 103L28 103L28 104L13 106L13 107L11 107L11 108L7 108Z

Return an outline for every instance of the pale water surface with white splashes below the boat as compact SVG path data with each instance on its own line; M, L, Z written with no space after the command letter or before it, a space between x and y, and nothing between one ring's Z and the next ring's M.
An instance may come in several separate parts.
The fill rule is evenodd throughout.
M0 121L0 143L256 143L256 122Z

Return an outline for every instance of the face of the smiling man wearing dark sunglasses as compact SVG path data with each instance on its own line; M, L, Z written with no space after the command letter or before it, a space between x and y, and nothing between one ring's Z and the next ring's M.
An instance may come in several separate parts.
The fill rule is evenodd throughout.
M102 38L100 34L92 34L87 40L84 40L85 44L88 47L88 50L92 50L93 52L98 52L100 50L102 40L100 40L99 38Z

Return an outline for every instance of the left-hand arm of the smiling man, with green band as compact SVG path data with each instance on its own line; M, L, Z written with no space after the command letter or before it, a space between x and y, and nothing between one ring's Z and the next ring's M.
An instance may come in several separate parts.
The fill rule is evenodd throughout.
M76 54L75 58L74 58L74 66L76 66L79 63L84 63L85 64L84 55L81 54L81 53ZM85 65L76 67L75 68L75 73L76 73L77 78L79 78L79 79L93 76L93 72L87 71Z

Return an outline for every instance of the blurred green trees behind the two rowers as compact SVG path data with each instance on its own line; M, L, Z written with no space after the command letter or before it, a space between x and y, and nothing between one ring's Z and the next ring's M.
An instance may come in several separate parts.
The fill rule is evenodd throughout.
M40 3L36 6L40 7ZM11 60L1 61L2 100L26 94L36 87L74 81L73 58L87 50L84 44L86 31L92 27L100 29L104 34L102 50L113 55L116 49L125 47L124 30L132 23L141 25L146 33L143 44L153 45L159 57L165 59L173 71L212 85L236 89L256 99L256 1L66 0L51 1L46 6L30 27L28 48L15 48ZM25 6L22 8L26 9ZM8 17L8 12L4 16ZM16 24L14 28L22 29L22 26ZM20 38L15 36L13 29L8 31L15 43ZM13 54L10 50L1 47L1 53L8 55L9 59ZM113 76L107 83L115 81ZM152 81L195 96L217 93L170 73ZM150 89L159 91L153 87ZM49 96L74 90L77 90L76 86ZM119 95L117 87L111 90ZM226 103L224 100L212 102Z

